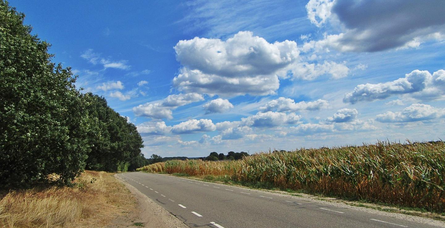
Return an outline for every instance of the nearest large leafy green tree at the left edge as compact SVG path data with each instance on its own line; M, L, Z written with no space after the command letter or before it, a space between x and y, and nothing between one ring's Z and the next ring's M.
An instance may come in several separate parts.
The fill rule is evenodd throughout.
M89 152L85 96L24 17L0 0L0 186L66 185Z

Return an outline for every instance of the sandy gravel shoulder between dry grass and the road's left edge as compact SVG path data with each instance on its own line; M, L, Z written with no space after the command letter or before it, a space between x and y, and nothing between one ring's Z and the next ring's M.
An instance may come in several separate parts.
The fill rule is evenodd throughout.
M150 197L147 197L139 192L138 189L129 185L121 177L118 177L116 174L114 177L130 190L131 194L136 197L138 204L136 210L118 216L109 227L188 227L177 217L155 203Z

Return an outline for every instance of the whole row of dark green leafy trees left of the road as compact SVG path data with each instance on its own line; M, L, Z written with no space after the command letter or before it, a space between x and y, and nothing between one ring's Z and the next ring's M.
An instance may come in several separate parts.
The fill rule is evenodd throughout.
M85 168L145 165L136 126L77 89L24 17L0 0L0 186L69 185Z

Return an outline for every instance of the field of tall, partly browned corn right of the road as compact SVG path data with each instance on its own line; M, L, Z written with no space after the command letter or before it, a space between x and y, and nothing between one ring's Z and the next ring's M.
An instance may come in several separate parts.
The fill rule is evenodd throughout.
M445 143L257 153L239 161L166 161L138 170L225 176L280 189L445 211Z

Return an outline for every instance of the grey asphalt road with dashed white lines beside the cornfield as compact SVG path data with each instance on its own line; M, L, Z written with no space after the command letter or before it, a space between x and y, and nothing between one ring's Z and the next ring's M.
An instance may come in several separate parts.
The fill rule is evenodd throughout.
M154 173L118 174L190 227L432 227L263 191Z

